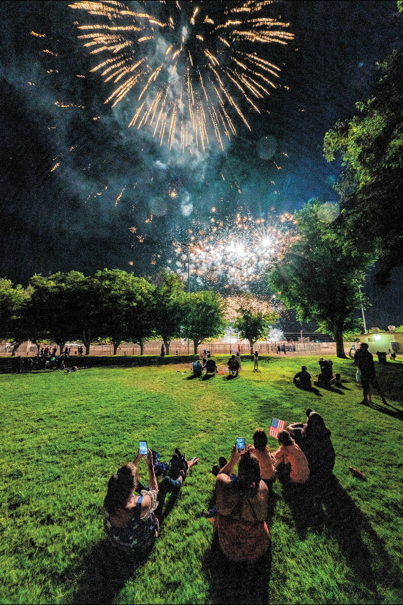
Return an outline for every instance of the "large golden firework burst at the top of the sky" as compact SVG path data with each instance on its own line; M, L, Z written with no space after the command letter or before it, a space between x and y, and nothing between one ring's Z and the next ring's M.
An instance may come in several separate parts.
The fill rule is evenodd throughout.
M116 106L133 94L129 127L147 126L169 147L201 148L211 136L237 134L234 116L251 129L246 109L276 88L280 68L267 60L267 45L287 44L289 24L270 16L270 0L241 2L105 2L69 6L97 19L81 23L79 38L102 60L99 71L114 90ZM270 8L269 8L270 7ZM213 134L214 133L214 134Z

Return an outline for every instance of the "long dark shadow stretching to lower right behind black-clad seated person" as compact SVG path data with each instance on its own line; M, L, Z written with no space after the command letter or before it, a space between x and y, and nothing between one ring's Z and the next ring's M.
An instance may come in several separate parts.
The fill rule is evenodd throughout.
M299 494L283 485L283 496L300 537L305 537L309 527L317 532L326 527L356 577L373 592L375 603L384 599L377 584L402 589L397 563L385 551L384 541L334 475L326 485L310 483Z

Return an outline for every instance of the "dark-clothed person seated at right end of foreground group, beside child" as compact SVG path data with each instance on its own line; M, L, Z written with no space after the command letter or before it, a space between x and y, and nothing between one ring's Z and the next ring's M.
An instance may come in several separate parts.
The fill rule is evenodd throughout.
M287 431L304 452L309 464L311 479L323 480L330 477L335 465L335 450L330 440L331 433L320 414L308 408L306 416L306 424L293 422L287 427Z

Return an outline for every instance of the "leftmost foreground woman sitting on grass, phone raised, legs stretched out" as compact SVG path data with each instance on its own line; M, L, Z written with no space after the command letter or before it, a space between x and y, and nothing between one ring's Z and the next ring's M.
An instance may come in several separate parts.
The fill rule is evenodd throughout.
M145 558L158 536L159 517L162 506L157 497L165 499L166 492L179 490L185 479L185 471L179 471L176 480L165 477L157 484L152 460L152 451L148 450L146 464L148 468L148 489L141 489L141 495L134 494L141 488L137 471L140 460L145 457L140 452L133 462L120 466L117 473L108 482L108 491L103 501L104 529L113 546L127 554ZM188 469L197 462L192 459Z

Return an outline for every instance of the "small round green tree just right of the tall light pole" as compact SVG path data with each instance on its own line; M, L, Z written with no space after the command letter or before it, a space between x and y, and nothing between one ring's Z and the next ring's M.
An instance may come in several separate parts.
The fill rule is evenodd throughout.
M195 355L205 338L222 335L225 327L224 301L219 294L201 290L184 295L181 333L193 341Z

